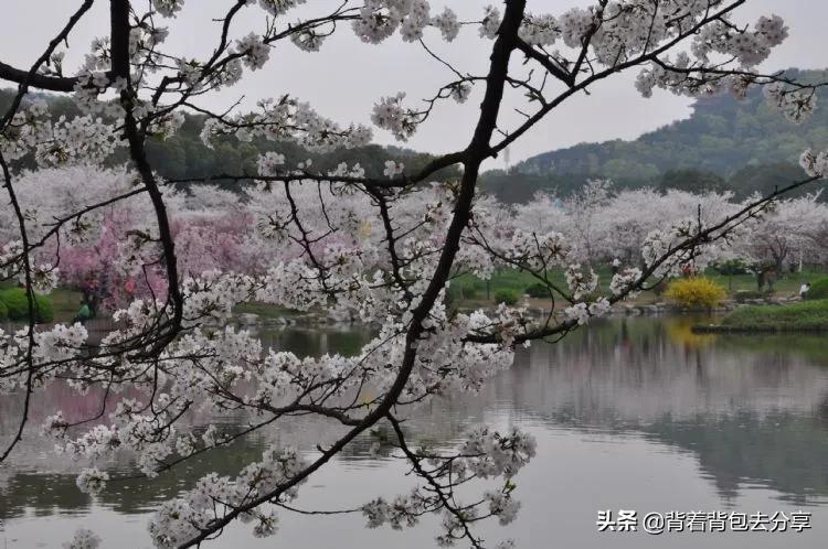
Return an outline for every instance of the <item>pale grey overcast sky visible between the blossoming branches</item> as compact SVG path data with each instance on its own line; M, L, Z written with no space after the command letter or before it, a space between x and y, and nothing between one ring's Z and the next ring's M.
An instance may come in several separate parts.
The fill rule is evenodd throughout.
M169 49L188 56L204 55L217 41L219 23L231 0L188 0L178 20L170 23ZM340 0L308 0L307 6L289 14L285 23L307 14L318 15L331 10ZM443 6L455 9L460 19L480 19L482 7L492 0L432 0L433 12ZM582 0L529 0L529 10L535 13L560 14L573 6L586 6ZM3 32L0 33L0 61L20 68L29 65L42 53L45 43L65 24L76 0L25 0L3 2ZM106 35L108 1L97 0L70 40L70 67L76 67L94 36ZM233 28L236 36L252 31L262 33L264 18L258 8L246 8L244 17ZM826 0L750 0L736 12L739 22L753 22L758 15L776 13L790 28L790 37L763 65L766 71L797 66L802 68L828 67L828 21ZM452 44L439 39L436 30L426 31L426 42L461 72L485 74L491 43L478 39L477 30L466 28ZM73 53L74 52L74 53ZM636 73L616 76L592 89L590 96L573 97L562 108L552 112L532 132L511 148L512 162L552 149L583 141L606 139L635 139L643 132L656 129L690 114L690 100L667 93L656 93L643 99L633 87ZM448 71L428 57L418 44L403 43L397 35L381 46L359 42L350 29L342 29L329 39L320 53L305 53L290 43L278 45L270 62L257 73L247 73L240 85L219 96L204 100L206 107L222 109L241 96L252 105L262 97L285 93L309 101L321 115L341 123L368 123L372 105L382 96L406 90L410 100L432 96L436 88L450 80ZM463 106L443 104L433 118L407 143L376 129L374 139L380 143L404 144L428 151L445 152L464 148L470 139L476 121L479 95ZM519 97L508 103L509 115L502 122L519 122L512 108L522 103ZM502 159L489 168L502 165Z

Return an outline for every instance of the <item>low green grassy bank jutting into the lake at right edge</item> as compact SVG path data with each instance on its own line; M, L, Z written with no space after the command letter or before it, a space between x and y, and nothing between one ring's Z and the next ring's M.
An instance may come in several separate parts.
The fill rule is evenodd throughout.
M740 308L700 332L828 332L828 300Z

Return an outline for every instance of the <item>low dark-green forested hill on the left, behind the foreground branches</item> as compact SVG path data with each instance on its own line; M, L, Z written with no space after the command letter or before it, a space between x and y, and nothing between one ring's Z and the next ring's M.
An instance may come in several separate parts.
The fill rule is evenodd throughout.
M4 112L13 97L12 90L0 89L0 112ZM40 95L49 104L50 115L56 119L60 116L73 118L79 114L74 103L64 96ZM214 148L206 148L199 134L204 125L201 115L187 115L184 125L170 139L164 141L150 139L147 142L147 154L152 166L162 176L168 179L204 177L215 174L255 174L256 160L258 155L267 151L277 151L285 155L287 165L296 165L306 160L312 161L315 170L326 172L335 169L340 162L349 165L359 163L365 169L367 175L382 177L386 160L396 160L405 163L406 172L416 172L428 163L433 157L425 153L401 149L397 147L381 147L369 144L358 149L338 149L323 154L309 152L293 142L272 142L264 139L255 139L252 142L242 142L234 138L220 138L214 142ZM109 159L113 164L119 164L127 160L124 148L118 149ZM33 158L22 160L22 166L35 168ZM449 176L454 172L442 173L435 176ZM221 184L222 182L220 182ZM232 186L231 182L224 182L225 186Z

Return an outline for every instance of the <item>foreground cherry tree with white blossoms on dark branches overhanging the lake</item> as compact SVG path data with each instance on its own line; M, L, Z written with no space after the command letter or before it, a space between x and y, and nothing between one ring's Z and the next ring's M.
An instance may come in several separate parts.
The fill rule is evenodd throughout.
M815 108L814 86L755 69L787 36L778 17L743 21L739 8L746 0L598 0L555 14L532 12L527 0L507 0L482 13L464 3L460 14L448 8L432 12L425 0L337 0L314 2L317 15L297 22L291 12L302 0L235 0L219 14L216 35L201 39L210 52L183 58L166 50L164 40L181 32L174 25L178 13L201 6L192 0L110 0L108 35L93 43L83 66L64 66L62 44L93 2L78 2L31 67L0 63L0 78L18 85L0 118L0 169L17 226L0 266L4 277L28 289L31 313L26 326L0 334L0 391L25 396L17 433L1 450L0 461L22 437L32 435L30 396L49 383L65 383L79 392L103 389L95 417L61 412L46 420L44 433L55 438L62 452L95 462L116 450L131 451L149 478L297 416L315 415L341 428L335 442L315 453L275 446L235 476L199 480L192 491L159 506L149 527L158 547L198 546L235 521L251 524L256 536L275 534L277 513L301 510L294 500L302 484L378 423L393 433L384 444L407 461L417 486L391 499L378 494L355 512L370 527L392 528L436 514L442 517L439 545L482 547L475 526L490 517L501 524L514 518L519 504L513 477L534 455L534 441L516 429L496 432L482 426L456 449L421 449L411 444L404 423L410 410L453 391L478 390L511 364L516 345L560 337L605 314L652 277L702 260L713 243L760 215L786 190L826 173L828 153L808 152L803 157L808 176L802 181L715 220L675 219L670 227L650 232L641 243L643 268L619 272L612 294L585 301L596 279L580 259L591 259L595 238L582 235L573 243L555 230L502 230L498 209L478 196L481 164L550 112L565 108L572 97L629 71L638 73L637 87L645 96L654 88L742 96L752 86L764 86L769 105L792 121L800 120ZM238 14L252 10L261 15L259 28L238 29ZM263 99L250 112L232 105L214 112L199 101L231 88L245 74L278 69L277 63L268 63L277 44L291 42L323 53L326 39L342 32L370 44L399 34L411 47L435 57L427 41L452 42L459 32L477 33L488 50L485 74L464 72L438 57L448 78L429 99L417 105L404 93L380 97L370 115L375 127L405 141L427 122L436 105L463 104L477 89L479 115L467 144L416 173L392 161L380 179L351 165L330 173L307 163L285 165L275 153L261 158L257 173L204 174L204 180L255 179L258 187L251 193L263 200L253 223L273 248L290 251L274 254L272 261L265 258L269 265L261 274L211 270L193 276L182 270L169 203L176 182L153 173L147 140L172 134L190 109L206 117L202 138L208 144L220 137L290 140L315 151L368 143L368 127L329 120L291 96ZM72 94L85 114L52 121L32 90ZM527 98L521 110L526 117L507 127L502 103L511 94ZM91 196L62 216L35 214L32 222L21 203L25 175L15 161L32 154L43 168L99 165L118 148L129 154L129 189L115 196ZM461 169L458 181L432 182L448 166ZM121 327L94 345L81 324L36 327L33 292L60 281L57 260L47 260L50 237L98 230L100 212L137 196L151 207L152 224L126 232L117 243L118 262L131 276L161 273L164 292L117 311ZM583 224L582 229L591 226ZM493 312L447 313L445 290L454 276L486 276L496 267L531 273L567 306L540 323L505 305ZM556 267L566 269L565 288L549 277ZM252 334L227 323L234 305L251 299L354 315L375 323L378 335L354 356L299 358L263 348ZM140 397L125 398L126 389ZM250 427L232 434L209 429L195 437L182 420L193 409L245 412ZM474 481L495 487L479 493L476 486L481 484ZM94 466L78 477L79 487L88 492L116 482ZM469 495L476 489L478 495ZM88 547L95 539L82 530L72 543Z

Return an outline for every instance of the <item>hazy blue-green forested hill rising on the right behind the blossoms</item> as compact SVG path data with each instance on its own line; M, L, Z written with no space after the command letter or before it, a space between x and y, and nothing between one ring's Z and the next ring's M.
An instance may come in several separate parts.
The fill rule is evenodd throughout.
M788 74L803 82L828 82L828 71L790 69ZM541 189L565 194L586 177L609 177L620 186L661 185L668 172L672 179L683 172L725 186L732 186L736 177L740 186L745 179L740 172L750 174L763 165L787 175L803 150L828 148L828 89L818 95L814 116L799 126L765 105L758 88L742 101L730 95L699 99L690 118L635 141L582 143L539 154L509 174L489 172L486 186L512 202Z

